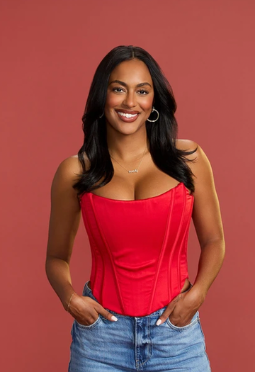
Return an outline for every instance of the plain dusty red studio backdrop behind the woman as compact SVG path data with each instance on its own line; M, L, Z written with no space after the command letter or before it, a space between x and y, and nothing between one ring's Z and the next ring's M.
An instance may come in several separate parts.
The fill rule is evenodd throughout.
M1 0L1 357L5 372L67 371L72 317L45 275L50 185L83 142L98 63L144 47L178 104L179 138L198 142L215 176L226 257L200 317L212 371L251 371L254 345L254 16L247 0ZM191 280L200 247L191 223ZM91 255L83 222L71 273Z

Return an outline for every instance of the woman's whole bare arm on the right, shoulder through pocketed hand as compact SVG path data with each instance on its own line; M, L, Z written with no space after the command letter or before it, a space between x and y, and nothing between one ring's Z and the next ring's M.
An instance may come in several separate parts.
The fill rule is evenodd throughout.
M212 167L202 148L196 142L188 141L189 150L197 146L198 150L189 155L190 159L196 157L196 162L188 164L195 175L192 218L201 249L198 273L191 290L177 295L159 318L164 322L170 315L171 322L177 327L183 327L191 322L193 315L203 304L225 257L220 204L215 190Z

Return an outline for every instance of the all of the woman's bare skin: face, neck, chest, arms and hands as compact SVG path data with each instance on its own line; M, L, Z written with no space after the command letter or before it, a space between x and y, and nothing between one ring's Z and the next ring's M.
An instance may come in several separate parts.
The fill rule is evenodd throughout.
M137 174L128 174L113 161L114 176L111 182L94 193L106 198L134 200L157 196L176 186L179 181L160 171L152 161L149 153L145 121L152 112L154 89L152 77L146 64L140 60L122 62L111 73L111 81L123 81L125 85L113 83L108 85L105 117L107 142L110 154L126 169L142 165ZM148 83L137 87L137 84ZM147 92L145 94L145 91ZM140 115L133 123L125 123L116 114L116 109L139 111ZM196 311L203 304L212 282L215 280L225 256L225 240L220 215L220 205L215 190L212 167L202 148L192 140L177 140L176 146L182 150L198 150L188 163L195 177L196 191L193 193L193 223L200 243L198 274L193 287L185 293L190 283L188 279L181 293L167 306L159 317L159 323L167 317L177 327L188 325ZM89 159L84 157L86 169ZM81 164L77 155L64 159L55 173L51 188L51 212L47 258L45 269L47 277L55 292L67 310L69 299L75 292L69 270L72 247L81 220L81 208L77 191L72 185L77 181L75 174L81 174ZM99 303L87 296L74 293L69 303L70 314L82 325L90 325L98 318L98 313L108 320L115 321L113 315Z

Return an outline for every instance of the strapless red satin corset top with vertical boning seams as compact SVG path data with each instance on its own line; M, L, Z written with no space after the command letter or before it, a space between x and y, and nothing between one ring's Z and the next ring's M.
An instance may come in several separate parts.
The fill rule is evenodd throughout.
M188 278L194 197L183 182L152 198L116 200L84 193L91 291L103 308L144 316L166 306Z

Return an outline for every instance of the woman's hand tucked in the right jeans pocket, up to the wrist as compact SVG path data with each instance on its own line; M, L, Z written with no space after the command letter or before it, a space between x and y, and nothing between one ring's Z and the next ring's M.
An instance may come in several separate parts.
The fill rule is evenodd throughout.
M167 317L169 317L173 325L184 327L190 324L204 300L205 296L193 286L188 292L179 293L179 295L171 300L171 303L167 305L166 310L164 310L156 324L164 323Z

